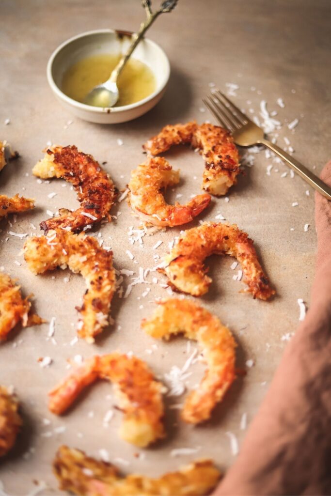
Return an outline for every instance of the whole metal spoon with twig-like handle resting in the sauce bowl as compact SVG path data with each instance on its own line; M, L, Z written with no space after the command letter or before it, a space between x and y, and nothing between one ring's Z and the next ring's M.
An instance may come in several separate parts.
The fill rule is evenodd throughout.
M113 69L109 79L98 86L95 86L85 97L84 103L93 107L114 107L119 99L119 89L117 79L128 62L133 50L155 19L163 12L171 12L178 0L165 0L161 3L159 10L152 12L151 1L141 0L141 4L146 11L146 20L140 24L139 31L132 36L132 43L127 52L121 57L120 62Z

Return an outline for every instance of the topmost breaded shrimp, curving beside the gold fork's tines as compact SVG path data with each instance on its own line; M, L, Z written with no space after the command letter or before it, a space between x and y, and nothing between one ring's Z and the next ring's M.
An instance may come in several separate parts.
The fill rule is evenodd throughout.
M220 196L237 183L240 172L238 150L231 134L223 127L196 122L166 125L143 148L151 155L158 155L172 145L183 144L198 148L205 161L202 189Z

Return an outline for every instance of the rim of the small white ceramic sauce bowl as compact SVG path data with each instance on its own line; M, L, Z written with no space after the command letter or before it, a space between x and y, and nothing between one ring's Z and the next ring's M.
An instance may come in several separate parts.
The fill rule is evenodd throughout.
M157 90L153 91L153 93L148 95L146 98L143 98L142 100L139 100L138 102L132 103L130 105L123 105L121 107L93 107L92 105L86 105L84 103L77 102L73 98L68 97L63 91L61 91L59 86L55 83L53 75L52 75L53 62L54 62L56 56L61 52L61 50L63 48L65 48L67 45L70 45L70 43L72 43L73 41L75 41L79 38L85 38L85 37L88 37L88 36L91 36L94 34L98 34L98 33L123 33L126 35L132 35L133 34L132 31L121 30L121 29L111 29L111 28L109 28L109 29L94 29L92 31L85 31L84 33L80 33L78 35L72 36L71 38L68 38L66 41L61 43L61 45L59 45L52 53L51 57L49 58L49 60L47 62L47 68L46 68L48 84L50 85L53 92L59 98L64 100L69 105L76 107L80 110L84 110L86 112L98 113L98 114L113 114L113 113L125 112L127 110L132 110L132 109L135 109L137 107L140 107L141 105L144 105L145 103L147 103L150 100L152 100L153 98L155 98L157 95L159 95L164 90L165 86L167 85L167 83L169 81L169 77L170 77L169 59L168 59L166 53L164 52L164 50L160 47L160 45L158 45L155 41L150 40L149 38L143 38L144 41L146 41L147 43L150 43L151 45L154 45L154 47L156 47L158 50L161 51L162 55L164 56L164 60L166 62L166 66L167 66L166 67L167 73L166 73L164 83Z

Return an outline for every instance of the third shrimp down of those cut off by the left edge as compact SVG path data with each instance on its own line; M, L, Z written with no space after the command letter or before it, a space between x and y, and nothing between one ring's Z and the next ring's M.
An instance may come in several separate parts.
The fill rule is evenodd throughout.
M7 274L0 272L0 341L7 337L18 322L23 327L45 322L39 315L29 314L30 308L28 298L22 298L20 286L16 286Z

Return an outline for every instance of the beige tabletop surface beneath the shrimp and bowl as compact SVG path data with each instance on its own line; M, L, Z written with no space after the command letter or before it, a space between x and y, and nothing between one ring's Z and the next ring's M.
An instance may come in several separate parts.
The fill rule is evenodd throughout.
M278 135L280 146L288 146L284 140L287 138L295 156L316 173L330 158L330 107L329 113L326 110L330 105L328 0L180 0L176 10L162 16L149 33L166 50L172 66L162 101L147 115L127 124L102 126L72 118L55 100L46 81L46 63L52 51L83 31L107 27L134 30L143 15L138 0L0 3L0 138L9 141L21 155L1 172L1 193L19 192L36 199L36 209L19 216L12 227L12 217L1 221L0 265L19 279L25 294L34 293L40 315L48 320L56 317L55 342L48 338L49 326L45 324L17 329L1 345L0 383L13 385L19 395L24 427L16 448L1 460L0 494L26 495L38 488L39 494L58 494L51 462L62 443L93 456L99 456L100 449L107 450L111 461L122 459L118 464L125 472L139 471L152 476L203 456L211 456L226 469L235 461L226 433L233 433L240 446L245 436L242 416L247 414L249 425L279 363L288 333L298 325L297 299L302 298L309 305L316 247L313 190L299 177L291 178L288 168L272 157L267 158L265 151L253 154L254 165L245 168L246 176L240 177L238 185L229 191L229 202L215 198L199 217L213 220L221 213L227 221L247 231L255 240L277 290L271 302L254 301L239 293L244 284L232 279L237 273L230 269L233 260L216 256L210 259L214 282L199 303L215 312L233 331L238 342L238 367L245 367L247 360L254 361L246 377L236 380L204 426L184 425L179 420L179 410L168 408L168 438L146 450L137 450L119 439L120 412L115 410L113 420L104 426L103 418L114 406L108 383L93 386L62 418L48 412L46 393L68 373L67 360L74 356L86 359L95 353L133 351L162 379L172 366L182 367L189 357L184 339L170 344L158 342L154 349L154 341L139 329L140 319L154 308L153 299L168 296L160 287L165 279L156 273L147 279L151 282L156 276L157 285L137 285L129 298L114 298L111 314L115 324L95 345L79 340L70 346L76 332L74 307L80 304L84 292L82 278L60 269L33 276L21 253L23 240L7 234L10 230L39 233L38 227L34 231L30 223L38 226L48 217L47 209L56 211L77 205L75 193L69 186L63 188L63 181L38 184L31 175L32 166L48 141L75 144L100 162L106 161L105 169L122 189L129 181L130 171L143 159L141 144L146 138L165 124L211 119L200 110L208 84L229 90L226 84L233 83L239 88L232 98L247 112L252 109L252 116L260 117L262 100L267 102L269 111L277 111L275 118L282 126L270 136ZM283 99L284 108L278 106L278 98ZM296 118L299 123L290 130L287 124ZM4 125L6 119L10 119L10 124ZM118 145L118 138L123 140L122 146ZM174 201L178 192L183 194L183 201L192 193L198 194L202 159L189 149L173 150L167 157L174 167L181 168L183 178L170 199ZM267 175L267 166L271 164L273 168ZM281 177L284 172L287 176ZM50 199L48 194L52 192L57 195ZM299 205L293 207L293 202ZM99 231L105 246L113 248L118 269L134 270L135 275L139 266L153 267L153 254L165 253L168 242L180 232L167 230L143 238L143 246L131 245L128 230L130 226L137 227L139 221L132 217L125 201L112 213L118 219L99 226L93 235L97 236ZM305 224L309 224L308 232L304 232ZM198 220L193 225L198 225ZM163 244L153 250L158 240ZM133 261L126 254L127 249L134 254ZM69 277L68 283L65 277ZM129 282L125 278L124 289ZM143 298L146 287L151 291ZM191 351L194 349L192 346ZM152 354L146 350L152 350ZM46 356L53 362L42 369L37 359ZM197 382L203 368L197 364L190 370L194 373L188 388ZM183 402L183 397L165 399L168 407ZM171 456L172 449L184 447L197 448L197 452ZM144 459L134 457L138 451L143 451ZM36 486L33 481L44 482Z

